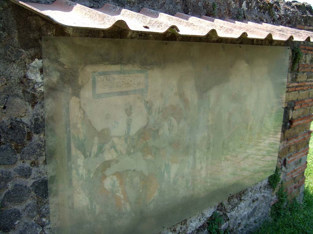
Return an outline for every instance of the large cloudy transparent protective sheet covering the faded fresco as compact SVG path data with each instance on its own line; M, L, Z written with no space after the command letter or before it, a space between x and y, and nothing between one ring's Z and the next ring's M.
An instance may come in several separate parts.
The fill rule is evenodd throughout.
M153 234L275 171L288 47L43 37L51 226Z

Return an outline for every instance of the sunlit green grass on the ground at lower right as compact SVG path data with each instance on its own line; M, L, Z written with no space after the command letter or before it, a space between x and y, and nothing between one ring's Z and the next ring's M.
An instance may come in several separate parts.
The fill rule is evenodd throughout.
M307 162L303 202L288 203L278 217L265 222L254 234L313 234L313 137Z

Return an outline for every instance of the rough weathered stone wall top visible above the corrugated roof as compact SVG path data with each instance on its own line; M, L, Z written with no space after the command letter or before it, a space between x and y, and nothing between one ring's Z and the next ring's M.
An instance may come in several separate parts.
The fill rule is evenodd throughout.
M23 0L51 4L54 0ZM275 25L296 28L298 25L313 25L313 9L310 4L297 1L285 2L265 0L176 0L176 1L141 1L141 0L73 0L90 8L101 8L110 3L125 9L140 12L144 7L169 15L176 12L200 17L202 15L218 18L267 22Z

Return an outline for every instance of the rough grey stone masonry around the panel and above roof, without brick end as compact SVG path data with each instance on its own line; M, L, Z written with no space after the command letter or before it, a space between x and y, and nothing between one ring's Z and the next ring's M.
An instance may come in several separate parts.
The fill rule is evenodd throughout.
M49 0L29 2L52 3ZM291 2L261 1L74 1L100 8L105 3L139 12L147 7L168 14L182 12L296 27L313 25L312 7ZM216 4L216 5L214 5ZM82 30L58 26L8 0L0 1L0 233L49 233L49 201L44 136L44 94L41 54L42 36L110 37L173 41L294 46L294 42L181 37L172 33ZM288 119L284 120L287 123ZM53 178L49 178L53 179ZM203 207L164 233L205 233L201 226L217 208L225 228L249 232L269 217L274 197L267 180L229 197L214 207ZM244 208L239 208L244 207ZM207 209L206 209L207 208ZM200 228L198 228L201 226Z

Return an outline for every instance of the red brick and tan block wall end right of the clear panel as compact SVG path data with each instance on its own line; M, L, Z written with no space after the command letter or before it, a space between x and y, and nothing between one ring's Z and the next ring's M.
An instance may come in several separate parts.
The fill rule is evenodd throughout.
M295 72L289 72L285 99L285 119L278 165L288 198L303 198L306 157L313 119L313 45L299 45L302 58Z

